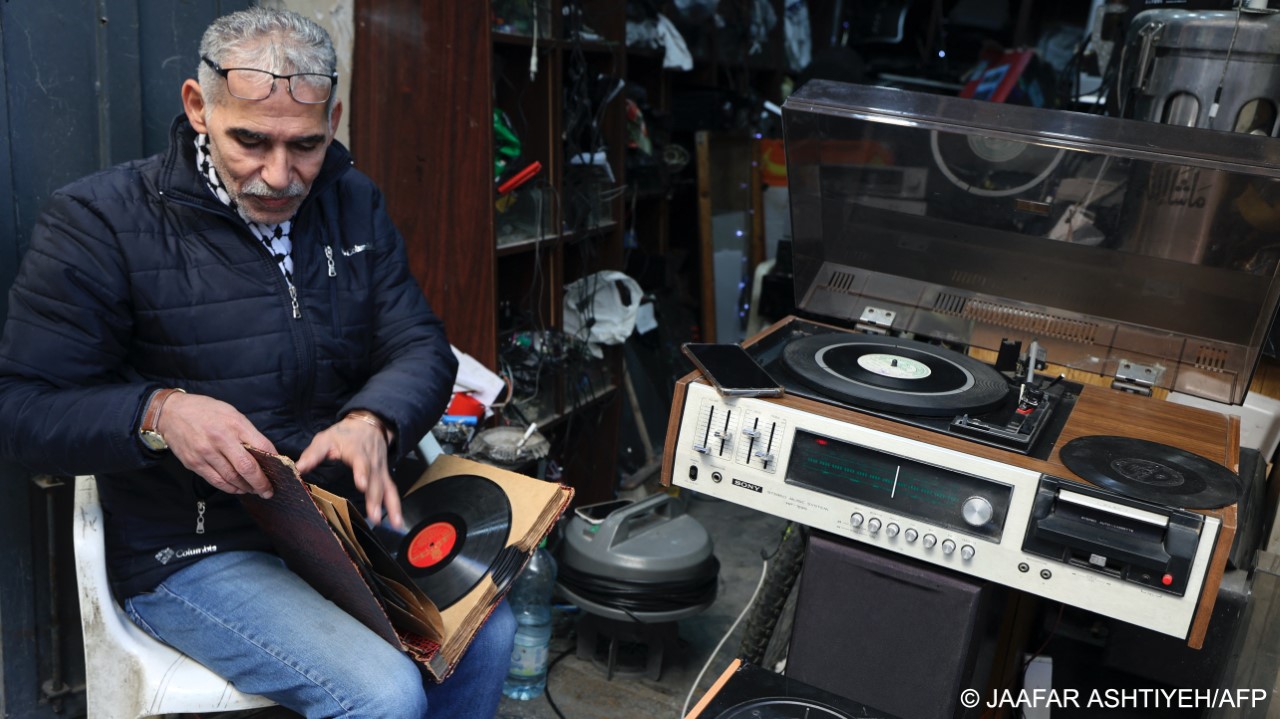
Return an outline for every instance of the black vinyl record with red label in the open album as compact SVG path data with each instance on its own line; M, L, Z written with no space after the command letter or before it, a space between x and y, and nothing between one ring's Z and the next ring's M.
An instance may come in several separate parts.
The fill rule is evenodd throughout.
M442 610L466 596L507 545L511 503L486 477L442 477L406 495L402 510L408 531L387 549Z

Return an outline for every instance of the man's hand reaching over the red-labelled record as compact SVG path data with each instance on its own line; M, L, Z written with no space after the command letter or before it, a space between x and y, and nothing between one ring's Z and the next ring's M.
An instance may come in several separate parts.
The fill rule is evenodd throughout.
M392 526L404 527L399 491L387 467L387 434L381 427L348 415L311 440L298 457L298 472L306 475L325 459L351 467L356 489L365 493L365 513L371 522L380 522L385 508Z

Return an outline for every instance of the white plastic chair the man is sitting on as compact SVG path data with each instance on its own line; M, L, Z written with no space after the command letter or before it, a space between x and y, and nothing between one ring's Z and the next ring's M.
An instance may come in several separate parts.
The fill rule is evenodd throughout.
M241 693L189 656L151 638L124 614L106 581L102 507L92 476L76 477L72 527L88 719L233 711L275 704L264 696Z

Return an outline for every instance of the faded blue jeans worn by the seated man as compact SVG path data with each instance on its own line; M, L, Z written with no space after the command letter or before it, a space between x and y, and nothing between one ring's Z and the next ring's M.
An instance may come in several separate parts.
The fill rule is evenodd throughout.
M498 711L516 620L502 603L443 683L271 554L214 554L124 603L146 632L242 692L308 718L484 719Z

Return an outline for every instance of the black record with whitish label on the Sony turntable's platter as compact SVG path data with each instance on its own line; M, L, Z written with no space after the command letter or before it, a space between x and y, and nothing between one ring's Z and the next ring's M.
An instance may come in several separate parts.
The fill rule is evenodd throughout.
M1004 375L950 349L881 335L831 333L787 343L782 363L809 388L868 409L947 417L1000 407Z

